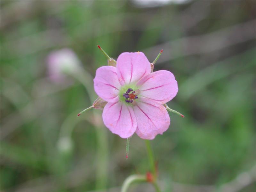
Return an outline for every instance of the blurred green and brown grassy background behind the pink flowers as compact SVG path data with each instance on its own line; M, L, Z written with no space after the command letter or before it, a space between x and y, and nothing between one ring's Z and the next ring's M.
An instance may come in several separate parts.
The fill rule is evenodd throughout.
M141 51L179 84L171 125L151 141L162 191L255 191L256 1L1 0L1 191L119 191L149 170L144 140L126 140L102 111L95 70ZM52 51L73 50L84 70L55 83ZM70 75L70 74L69 74ZM86 87L84 87L86 85ZM89 96L93 97L91 100ZM148 184L131 191L154 191Z

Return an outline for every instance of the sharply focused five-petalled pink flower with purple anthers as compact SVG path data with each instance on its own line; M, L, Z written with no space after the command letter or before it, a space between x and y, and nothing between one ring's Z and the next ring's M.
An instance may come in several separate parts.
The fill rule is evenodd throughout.
M136 132L140 138L152 140L170 125L163 104L176 96L177 81L169 71L150 70L142 52L124 52L117 58L116 67L96 70L94 90L108 102L103 109L103 122L121 138Z

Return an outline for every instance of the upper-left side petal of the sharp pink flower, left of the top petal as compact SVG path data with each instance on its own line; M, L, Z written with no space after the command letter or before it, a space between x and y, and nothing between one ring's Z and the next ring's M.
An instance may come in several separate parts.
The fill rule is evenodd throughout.
M103 66L96 70L94 90L99 97L108 102L118 101L120 84L117 79L116 68Z

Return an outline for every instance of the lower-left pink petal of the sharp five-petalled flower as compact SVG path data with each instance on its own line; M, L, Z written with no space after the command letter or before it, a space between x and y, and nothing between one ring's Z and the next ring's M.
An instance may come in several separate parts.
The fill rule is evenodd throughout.
M106 127L121 138L129 138L136 131L137 122L132 108L120 101L108 103L102 118Z

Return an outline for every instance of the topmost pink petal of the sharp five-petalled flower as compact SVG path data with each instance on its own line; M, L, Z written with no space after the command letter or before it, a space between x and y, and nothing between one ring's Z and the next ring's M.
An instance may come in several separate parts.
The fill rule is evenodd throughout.
M117 76L120 84L139 81L150 73L150 63L143 52L124 52L116 61Z

